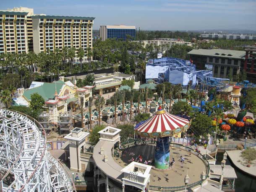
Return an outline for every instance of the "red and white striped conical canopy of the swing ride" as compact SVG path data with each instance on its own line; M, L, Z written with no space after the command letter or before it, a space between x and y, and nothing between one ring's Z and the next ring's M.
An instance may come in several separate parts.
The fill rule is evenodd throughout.
M154 132L166 132L184 127L188 125L188 123L188 119L169 114L159 107L156 114L144 124L140 125L136 131L149 134Z

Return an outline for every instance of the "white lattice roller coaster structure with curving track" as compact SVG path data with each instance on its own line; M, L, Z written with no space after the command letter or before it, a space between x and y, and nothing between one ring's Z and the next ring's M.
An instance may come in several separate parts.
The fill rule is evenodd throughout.
M73 192L63 166L46 148L43 127L24 114L0 109L0 192Z

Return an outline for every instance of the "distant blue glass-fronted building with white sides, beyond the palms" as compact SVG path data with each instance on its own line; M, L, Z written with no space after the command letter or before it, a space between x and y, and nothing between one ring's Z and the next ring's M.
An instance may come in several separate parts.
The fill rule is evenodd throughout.
M100 26L99 36L102 41L108 38L126 40L127 36L131 36L134 39L136 37L136 28L135 26L124 25Z

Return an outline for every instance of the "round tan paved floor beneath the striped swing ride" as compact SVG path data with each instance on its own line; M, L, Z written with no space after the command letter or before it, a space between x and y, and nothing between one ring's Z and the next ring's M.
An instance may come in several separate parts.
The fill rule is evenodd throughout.
M122 167L127 166L132 157L136 159L139 155L145 160L154 159L154 145L138 145L128 148L121 158L114 157L114 160ZM133 156L134 153L134 156ZM179 159L180 156L185 158L184 164ZM152 167L150 171L150 185L161 187L178 187L184 185L184 177L188 173L190 177L190 184L198 182L200 180L200 174L202 171L206 171L204 162L199 157L192 154L189 155L188 151L179 148L170 148L170 159L175 159L175 165L165 171L158 171ZM150 163L149 163L150 165Z

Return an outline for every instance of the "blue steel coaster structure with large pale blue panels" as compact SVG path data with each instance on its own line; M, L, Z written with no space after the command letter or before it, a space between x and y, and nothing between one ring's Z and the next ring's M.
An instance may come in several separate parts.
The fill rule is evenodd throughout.
M196 66L190 61L174 57L149 60L146 64L146 80L148 79L157 83L168 81L182 86L187 86L191 81L192 87L196 84L223 87L227 85L227 82L223 81L229 82L227 78L214 78L210 70L196 70Z

